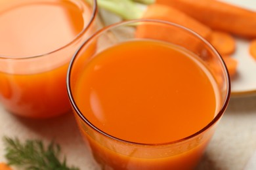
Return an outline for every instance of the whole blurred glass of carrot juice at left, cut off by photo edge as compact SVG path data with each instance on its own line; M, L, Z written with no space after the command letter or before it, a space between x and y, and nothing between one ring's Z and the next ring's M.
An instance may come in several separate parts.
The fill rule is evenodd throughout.
M14 114L49 118L71 109L66 72L95 31L96 0L12 0L0 7L0 102Z

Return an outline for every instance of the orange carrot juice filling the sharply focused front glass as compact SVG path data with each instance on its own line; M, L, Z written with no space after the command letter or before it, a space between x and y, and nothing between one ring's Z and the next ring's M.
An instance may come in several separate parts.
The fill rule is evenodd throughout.
M200 131L219 109L217 83L200 58L160 41L127 41L100 52L81 71L73 95L87 121L109 137L79 124L105 169L191 169L210 135L171 149L168 143Z

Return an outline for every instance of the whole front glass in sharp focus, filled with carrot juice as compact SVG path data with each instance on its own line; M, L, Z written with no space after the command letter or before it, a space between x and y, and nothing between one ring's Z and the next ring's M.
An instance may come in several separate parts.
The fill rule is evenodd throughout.
M230 97L215 49L156 20L95 33L72 59L67 86L102 169L194 169Z

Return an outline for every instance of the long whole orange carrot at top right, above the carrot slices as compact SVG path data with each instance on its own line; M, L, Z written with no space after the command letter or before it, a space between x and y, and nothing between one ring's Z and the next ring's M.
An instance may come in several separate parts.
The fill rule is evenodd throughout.
M216 0L156 0L185 12L212 29L256 37L256 12Z

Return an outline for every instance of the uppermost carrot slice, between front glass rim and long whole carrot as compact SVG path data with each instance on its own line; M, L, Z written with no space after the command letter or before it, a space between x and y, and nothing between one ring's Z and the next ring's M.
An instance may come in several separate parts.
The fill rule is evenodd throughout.
M229 33L213 31L209 42L221 55L230 55L236 50L236 40Z

